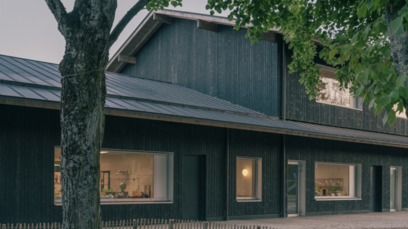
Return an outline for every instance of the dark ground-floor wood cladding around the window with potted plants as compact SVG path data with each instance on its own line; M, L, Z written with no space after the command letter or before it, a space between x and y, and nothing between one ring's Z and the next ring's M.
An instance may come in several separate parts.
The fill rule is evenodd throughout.
M293 144L296 142L296 144ZM382 166L382 208L390 208L390 166L402 166L402 208L408 207L408 156L406 149L356 144L335 140L288 136L289 160L306 161L306 212L331 212L370 209L370 166ZM315 201L315 162L362 165L361 200Z

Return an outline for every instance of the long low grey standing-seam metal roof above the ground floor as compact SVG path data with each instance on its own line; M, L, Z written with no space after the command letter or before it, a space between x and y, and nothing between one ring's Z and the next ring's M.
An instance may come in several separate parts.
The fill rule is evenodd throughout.
M56 64L0 55L0 104L59 109ZM408 137L283 121L174 83L107 73L107 115L408 148Z

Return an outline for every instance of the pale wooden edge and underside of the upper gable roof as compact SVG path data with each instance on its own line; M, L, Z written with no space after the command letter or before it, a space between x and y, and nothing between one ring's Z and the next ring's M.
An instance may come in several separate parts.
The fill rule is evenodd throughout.
M136 53L143 47L148 39L155 34L163 23L172 23L171 18L183 18L188 20L210 22L212 24L235 25L235 20L228 20L226 17L210 16L206 14L188 13L174 10L158 10L150 11L143 19L136 30L127 38L122 46L116 51L111 60L108 62L106 70L108 72L119 72L127 64L119 61L119 55L135 56ZM248 24L249 26L250 24ZM197 24L197 27L199 25ZM276 30L271 30L271 33L265 36L273 36ZM244 39L244 38L243 38Z

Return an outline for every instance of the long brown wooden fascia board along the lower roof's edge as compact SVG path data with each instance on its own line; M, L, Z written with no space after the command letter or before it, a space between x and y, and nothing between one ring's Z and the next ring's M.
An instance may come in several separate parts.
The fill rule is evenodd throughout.
M9 97L0 97L0 104L37 107L37 108L45 108L45 109L57 109L57 110L61 108L59 102L21 99L21 98L9 98ZM300 131L300 130L290 130L290 129L276 128L276 127L253 126L253 125L248 125L248 124L221 122L221 121L214 121L214 120L197 119L197 118L180 117L180 116L163 115L163 114L157 114L157 113L147 113L147 112L139 112L139 111L131 111L131 110L112 109L112 108L105 108L104 111L105 111L105 115L109 115L109 116L119 116L119 117L129 117L129 118L147 119L147 120L156 120L156 121L165 121L165 122L194 124L194 125L201 125L201 126L213 126L213 127L221 127L221 128L250 130L250 131L258 131L258 132L266 132L266 133L287 134L287 135L294 135L294 136L301 136L301 137L312 137L312 138L320 138L320 139L327 139L327 140L348 141L348 142L378 145L378 146L408 148L408 144L402 144L402 143L397 143L397 142L377 141L377 140L345 137L345 136L338 136L338 135L313 133L313 132Z

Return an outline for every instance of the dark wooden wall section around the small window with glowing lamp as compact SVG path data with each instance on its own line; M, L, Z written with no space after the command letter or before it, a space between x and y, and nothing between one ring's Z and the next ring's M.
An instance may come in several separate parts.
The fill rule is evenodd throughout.
M279 214L281 209L282 135L230 131L230 216ZM237 202L237 157L262 158L262 202Z

